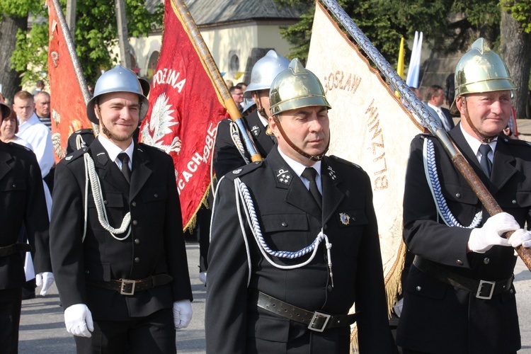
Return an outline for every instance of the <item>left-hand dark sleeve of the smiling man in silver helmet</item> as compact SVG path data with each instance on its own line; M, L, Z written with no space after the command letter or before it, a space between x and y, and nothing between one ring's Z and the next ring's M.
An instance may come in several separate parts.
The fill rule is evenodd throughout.
M81 166L83 168L83 166ZM52 269L63 309L86 304L83 229L84 203L80 187L67 164L55 169L50 252Z

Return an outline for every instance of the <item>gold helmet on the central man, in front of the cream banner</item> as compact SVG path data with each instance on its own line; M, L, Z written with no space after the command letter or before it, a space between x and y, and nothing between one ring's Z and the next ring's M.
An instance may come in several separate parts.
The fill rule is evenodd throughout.
M293 59L287 69L280 72L273 80L269 101L271 115L312 105L332 108L329 101L326 101L323 86L317 76L304 69L297 58Z

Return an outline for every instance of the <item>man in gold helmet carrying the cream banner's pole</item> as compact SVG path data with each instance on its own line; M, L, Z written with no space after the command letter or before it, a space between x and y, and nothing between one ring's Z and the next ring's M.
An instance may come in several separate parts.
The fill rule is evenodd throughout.
M437 139L411 143L404 241L415 255L396 343L404 353L516 353L513 247L531 246L531 147L497 137L515 89L483 38L457 63L450 137L504 212L490 216ZM514 232L509 239L503 234Z

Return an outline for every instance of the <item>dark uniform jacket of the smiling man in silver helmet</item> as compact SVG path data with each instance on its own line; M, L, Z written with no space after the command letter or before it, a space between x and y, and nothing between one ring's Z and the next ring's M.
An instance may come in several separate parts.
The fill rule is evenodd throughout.
M90 187L85 195L83 154L87 151L100 178L109 224L119 228L125 214L131 212L132 232L123 241L101 226ZM192 299L171 156L135 143L129 186L96 139L90 147L57 164L55 181L50 244L65 309L72 304L87 304L94 319L121 321L171 308L177 300ZM83 242L86 200L89 224ZM142 280L159 274L171 275L173 280L132 296L86 284L86 280Z

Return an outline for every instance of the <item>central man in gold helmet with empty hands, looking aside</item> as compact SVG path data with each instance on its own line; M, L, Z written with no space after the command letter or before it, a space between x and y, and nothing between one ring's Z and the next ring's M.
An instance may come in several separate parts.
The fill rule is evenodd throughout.
M324 156L331 105L297 59L270 103L278 144L217 188L207 353L350 353L354 321L361 353L392 353L370 179Z

